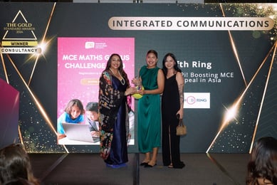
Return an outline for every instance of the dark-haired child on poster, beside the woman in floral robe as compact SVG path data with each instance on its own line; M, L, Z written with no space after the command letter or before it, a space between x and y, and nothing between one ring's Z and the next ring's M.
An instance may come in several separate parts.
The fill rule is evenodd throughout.
M98 107L98 102L88 102L85 106L85 124L89 125L90 134L94 142L99 142L100 140Z

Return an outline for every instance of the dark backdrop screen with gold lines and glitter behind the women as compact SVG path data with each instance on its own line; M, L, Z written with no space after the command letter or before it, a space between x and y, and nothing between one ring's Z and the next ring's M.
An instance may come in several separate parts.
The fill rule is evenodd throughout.
M229 17L267 17L274 14L273 5L264 6L261 11L256 4L224 4L221 9L219 4L0 3L1 38L6 33L6 23L11 23L20 10L36 28L33 32L38 42L48 41L46 53L38 58L27 54L1 54L0 78L7 80L4 75L7 72L10 84L21 93L19 126L28 152L99 151L98 146L56 144L58 37L134 37L136 73L145 65L145 55L150 49L159 53L159 67L162 67L163 56L172 52L182 62L212 63L211 69L190 65L182 68L184 73L234 73L233 78L221 78L216 83L208 83L207 79L205 83L184 85L185 93L210 93L210 108L184 109L188 134L181 138L181 152L249 152L253 139L276 135L276 130L272 129L276 127L273 120L276 120L274 107L277 105L273 98L276 60L271 60L274 29L120 31L110 29L108 20L113 16L222 17L224 13ZM226 110L238 100L236 116L220 129ZM137 120L138 115L135 116ZM135 125L137 127L136 121ZM254 132L255 127L258 127L257 132ZM138 152L137 142L130 146L129 152Z

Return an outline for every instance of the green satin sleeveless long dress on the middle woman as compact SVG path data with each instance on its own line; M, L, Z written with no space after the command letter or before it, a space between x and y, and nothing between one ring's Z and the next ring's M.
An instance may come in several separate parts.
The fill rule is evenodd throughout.
M140 77L145 90L157 89L157 74L160 68L143 66ZM160 94L145 94L138 100L137 138L139 150L142 153L152 152L161 146L161 97Z

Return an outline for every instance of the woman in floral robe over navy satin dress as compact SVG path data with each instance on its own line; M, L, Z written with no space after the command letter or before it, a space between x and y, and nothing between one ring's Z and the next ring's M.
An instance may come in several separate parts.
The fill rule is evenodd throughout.
M111 168L126 166L129 121L127 95L131 88L118 54L112 54L99 80L100 156Z

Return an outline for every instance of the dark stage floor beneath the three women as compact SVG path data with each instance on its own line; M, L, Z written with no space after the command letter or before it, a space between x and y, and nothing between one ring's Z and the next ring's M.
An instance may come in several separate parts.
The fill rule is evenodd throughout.
M29 154L41 184L245 184L249 154L181 154L183 169L140 166L143 154L129 154L126 167L110 169L99 154Z

